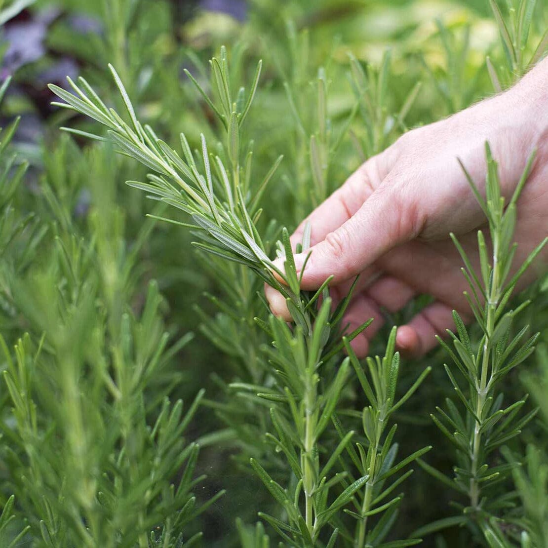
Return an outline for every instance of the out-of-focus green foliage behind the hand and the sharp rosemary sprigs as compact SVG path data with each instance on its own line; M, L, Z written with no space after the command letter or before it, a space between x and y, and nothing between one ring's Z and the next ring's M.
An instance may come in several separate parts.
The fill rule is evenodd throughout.
M532 21L527 59L548 26L544 2L536 3ZM184 130L199 147L203 132L214 147L219 127L184 69L208 89L207 60L221 44L229 49L232 82L251 81L263 59L242 141L254 141L253 177L262 179L284 156L263 198L263 222L276 219L291 230L404 130L493 94L486 56L503 87L519 76L504 68L489 2L0 0L0 22L0 77L12 76L0 111L0 125L8 128L0 145L0 368L13 377L12 392L32 402L14 410L13 393L7 384L0 388L0 505L16 495L15 520L0 535L12 539L22 531L21 545L32 538L44 546L147 546L152 540L143 531L161 525L165 534L174 527L174 509L193 489L195 509L179 516L180 523L191 522L185 546L191 538L199 541L192 536L199 530L206 546L265 545L259 543L262 529L250 527L256 510L272 503L247 463L261 456L272 459L273 471L283 465L264 438L267 411L258 412L256 402L230 384L265 382L264 358L256 354L264 334L253 321L266 313L255 296L260 284L235 266L204 258L188 231L147 219L146 213L161 215L162 207L123 184L142 180L144 168L102 144L60 134L59 125L85 131L93 123L51 106L46 84L84 76L119 107L105 70L112 62L140 119L162 139L175 142ZM319 151L317 166L311 165L312 146ZM220 282L223 269L225 283L238 288L233 302ZM548 541L548 284L540 281L528 294L533 304L522 322L541 331L540 350L526 374L510 376L506 389L510 397L531 392L536 403L528 403L529 410L539 404L541 413L511 448L529 459L516 472L516 489L527 504L512 511L516 520L537 523L544 535L538 538ZM423 296L387 315L387 323L404 321L426 301ZM378 335L373 353L383 355L387 333ZM432 444L427 460L450 473L452 449L429 417L452 393L444 360L437 350L404 363L403 389L425 366L433 369L397 421L406 453ZM107 377L114 380L111 390ZM169 409L182 399L186 413L202 389L206 396L196 414L188 420L183 414L170 426L173 432L151 431L158 417L163 420L165 398ZM361 409L356 387L347 392L349 407ZM175 447L166 441L170 436ZM196 462L191 442L201 446ZM537 481L541 470L544 483ZM207 478L193 486L191 478L202 474ZM136 484L132 478L148 479ZM184 489L173 494L170 482ZM118 506L98 509L92 501L98 490ZM223 490L225 496L198 513ZM398 538L452 515L453 498L416 471L401 505ZM59 536L62 520L75 529L85 520L92 536ZM426 543L470 545L470 538L454 527ZM163 545L178 545L174 539L164 537Z

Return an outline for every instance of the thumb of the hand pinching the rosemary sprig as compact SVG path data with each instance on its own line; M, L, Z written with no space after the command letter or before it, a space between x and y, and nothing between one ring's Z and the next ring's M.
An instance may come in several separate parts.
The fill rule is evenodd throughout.
M379 186L355 215L311 247L301 288L316 289L332 275L332 284L355 277L393 247L417 236L423 219L415 199L407 199L402 190ZM298 274L307 254L295 255Z

